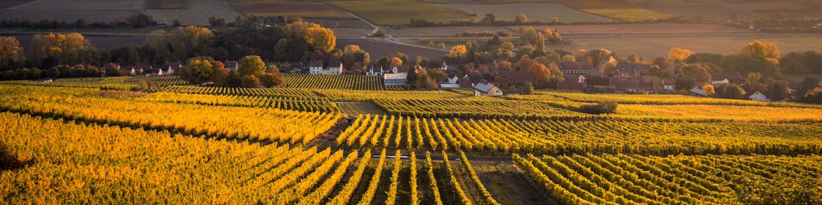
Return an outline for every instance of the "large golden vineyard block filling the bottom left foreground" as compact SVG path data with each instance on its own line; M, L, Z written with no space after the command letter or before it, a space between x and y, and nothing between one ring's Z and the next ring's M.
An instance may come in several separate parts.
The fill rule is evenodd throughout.
M387 166L393 167L393 180L383 183L380 170L386 162L385 149L372 165L370 150L358 157L356 150L344 154L316 147L261 146L173 136L167 131L63 123L10 112L0 112L0 121L4 122L0 142L10 148L14 159L29 164L0 175L0 198L12 204L372 204L388 199L418 204L446 200L426 191L428 185L417 187L416 157L411 154L410 162L399 160L399 150ZM461 161L468 163L465 158ZM458 171L469 171L462 175L474 177L476 173L452 169L447 160L442 163L447 171L435 174L427 155L431 169L423 177L440 179L439 186L445 185L449 192L467 192L450 190L462 183L455 177ZM411 174L396 174L403 169L410 169ZM434 178L428 181L437 185ZM382 191L392 188L393 193ZM424 198L418 190L427 193Z

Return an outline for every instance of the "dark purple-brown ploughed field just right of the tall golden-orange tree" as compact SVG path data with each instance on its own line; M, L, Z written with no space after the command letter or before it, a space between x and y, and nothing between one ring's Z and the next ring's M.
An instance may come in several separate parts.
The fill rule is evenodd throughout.
M347 45L358 45L360 48L371 54L373 59L386 56L394 56L397 52L402 52L409 57L423 56L428 58L440 57L446 54L445 51L418 48L390 42L378 42L370 39L337 39L337 48L345 48Z

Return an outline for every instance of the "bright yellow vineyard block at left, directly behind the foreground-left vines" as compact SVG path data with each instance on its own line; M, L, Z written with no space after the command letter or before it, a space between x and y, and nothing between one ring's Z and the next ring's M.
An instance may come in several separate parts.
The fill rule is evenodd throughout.
M333 126L334 112L154 103L90 96L94 89L0 86L2 110L127 127L307 144Z

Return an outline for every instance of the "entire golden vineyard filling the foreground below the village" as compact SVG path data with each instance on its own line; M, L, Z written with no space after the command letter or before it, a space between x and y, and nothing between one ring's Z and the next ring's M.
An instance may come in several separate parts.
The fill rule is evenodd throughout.
M822 203L819 105L548 90L490 98L372 76L285 76L273 89L169 75L2 81L0 198ZM144 82L156 86L135 89ZM602 100L620 104L581 112Z

